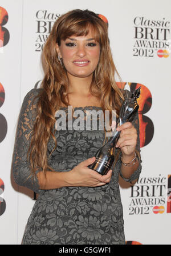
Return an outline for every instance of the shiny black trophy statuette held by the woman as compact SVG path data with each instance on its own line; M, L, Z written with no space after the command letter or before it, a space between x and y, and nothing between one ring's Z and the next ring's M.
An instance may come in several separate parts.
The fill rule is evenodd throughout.
M139 109L136 99L140 97L140 89L141 87L135 90L131 95L131 98L127 98L123 102L119 112L119 118L116 122L116 127L123 125L125 122L132 122L135 118ZM97 151L95 155L96 160L88 166L89 169L95 170L102 175L107 174L115 161L114 150L119 135L120 131L116 131L115 129L113 137L111 137L109 141Z

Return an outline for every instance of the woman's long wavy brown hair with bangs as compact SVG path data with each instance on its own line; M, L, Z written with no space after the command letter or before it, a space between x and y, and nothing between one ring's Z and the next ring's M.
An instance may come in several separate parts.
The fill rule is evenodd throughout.
M99 97L103 110L109 110L110 113L112 110L116 110L116 113L119 113L121 100L124 98L115 81L115 74L118 77L119 74L113 63L109 46L108 25L92 11L69 11L56 20L43 47L45 61L45 75L41 85L43 90L38 95L36 121L28 151L33 175L38 168L41 168L44 174L47 170L52 170L48 166L47 143L52 137L54 149L56 148L55 112L62 105L68 106L68 86L70 83L66 69L61 65L56 51L56 43L60 46L61 40L65 40L71 35L87 35L90 29L93 31L96 41L100 43L100 59L93 72L90 92Z

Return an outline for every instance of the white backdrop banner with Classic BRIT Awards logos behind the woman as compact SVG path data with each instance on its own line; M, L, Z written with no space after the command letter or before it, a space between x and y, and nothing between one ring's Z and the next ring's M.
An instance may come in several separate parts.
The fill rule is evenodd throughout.
M113 59L130 91L141 86L143 169L134 186L120 180L128 245L171 244L170 0L0 1L0 244L21 244L35 203L11 174L23 98L43 78L42 47L56 19L89 9L108 22Z

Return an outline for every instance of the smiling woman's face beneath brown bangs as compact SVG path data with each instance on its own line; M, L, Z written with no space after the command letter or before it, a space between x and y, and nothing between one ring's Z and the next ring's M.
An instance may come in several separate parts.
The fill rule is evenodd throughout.
M99 63L100 43L95 40L92 32L86 36L72 35L61 40L56 49L59 57L63 59L69 77L90 77Z

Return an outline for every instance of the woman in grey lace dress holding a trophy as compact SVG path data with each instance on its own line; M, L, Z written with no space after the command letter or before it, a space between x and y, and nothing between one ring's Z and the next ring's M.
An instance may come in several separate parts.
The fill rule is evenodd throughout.
M70 11L55 22L43 53L42 88L23 101L14 149L15 182L39 194L22 243L124 244L118 178L135 182L141 171L138 117L119 127L117 161L106 175L87 167L105 143L105 130L55 129L56 113L67 115L67 106L84 114L119 113L124 97L107 25L91 11Z

